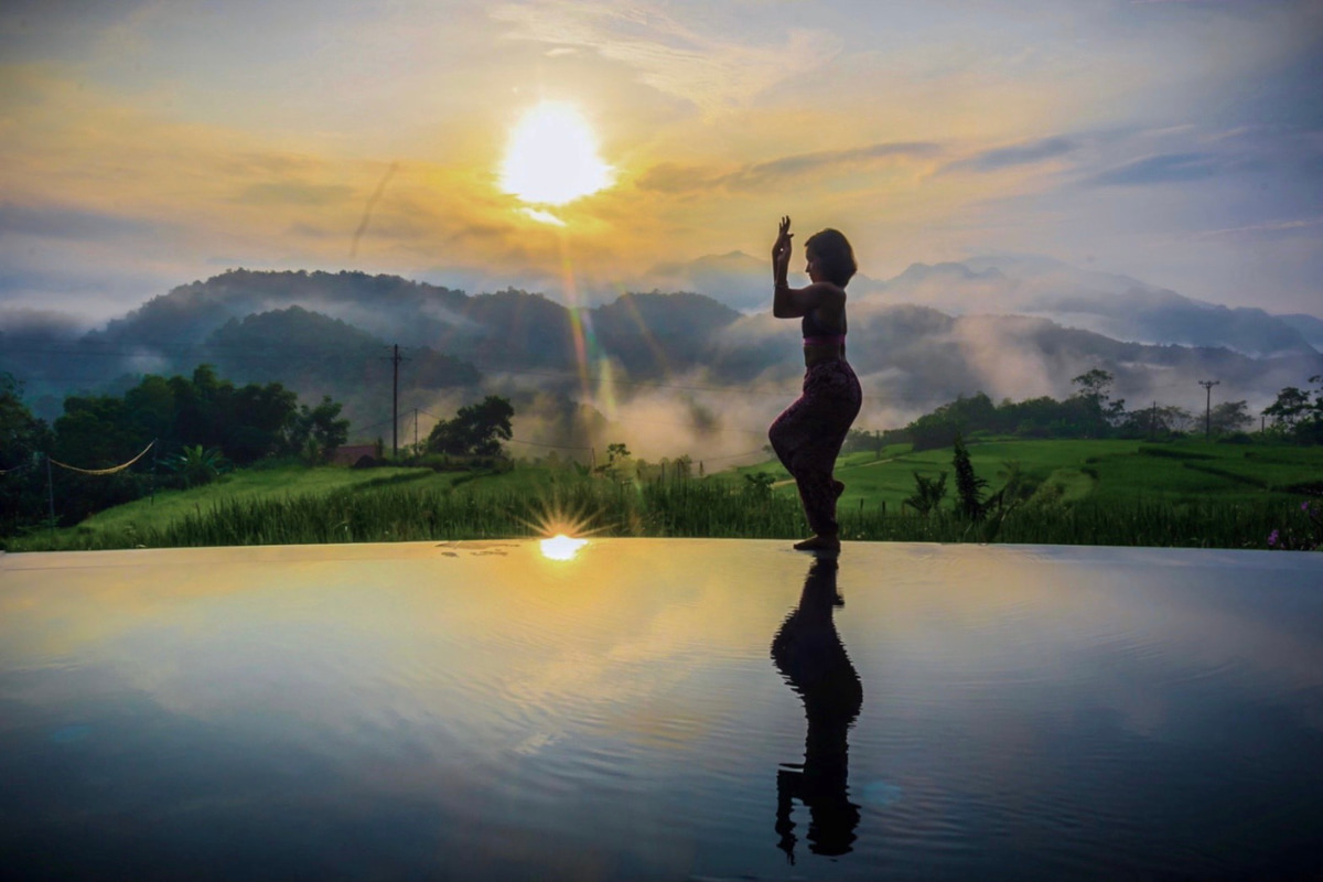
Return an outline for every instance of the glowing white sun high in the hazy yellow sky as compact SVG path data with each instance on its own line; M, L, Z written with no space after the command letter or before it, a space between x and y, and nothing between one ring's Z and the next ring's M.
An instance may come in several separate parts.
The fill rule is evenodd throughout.
M564 205L609 186L614 171L578 108L544 100L511 131L500 185L533 205Z

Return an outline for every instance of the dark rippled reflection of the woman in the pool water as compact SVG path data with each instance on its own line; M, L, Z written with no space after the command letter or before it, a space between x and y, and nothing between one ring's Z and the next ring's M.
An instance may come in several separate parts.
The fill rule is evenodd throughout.
M808 717L803 766L777 771L777 833L791 863L796 842L792 800L808 807L808 848L814 854L845 854L859 825L859 805L847 792L845 738L864 703L864 688L832 624L832 607L840 603L836 561L815 559L799 606L771 640L771 659L804 700Z

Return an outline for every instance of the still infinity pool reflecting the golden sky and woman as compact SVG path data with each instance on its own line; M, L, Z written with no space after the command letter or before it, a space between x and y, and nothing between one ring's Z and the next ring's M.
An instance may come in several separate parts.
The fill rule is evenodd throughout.
M0 877L1323 877L1323 555L0 555Z

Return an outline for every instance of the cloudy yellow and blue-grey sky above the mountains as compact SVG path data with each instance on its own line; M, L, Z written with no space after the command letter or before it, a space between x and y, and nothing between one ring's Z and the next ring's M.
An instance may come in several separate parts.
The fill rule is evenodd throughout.
M782 214L875 279L1043 254L1320 315L1319 82L1323 0L0 0L0 319L233 267L585 303ZM561 204L508 192L546 107L583 155L515 171L597 163Z

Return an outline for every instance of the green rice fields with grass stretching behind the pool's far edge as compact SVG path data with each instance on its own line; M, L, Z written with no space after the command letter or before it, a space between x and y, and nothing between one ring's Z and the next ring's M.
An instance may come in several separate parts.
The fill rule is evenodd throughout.
M963 505L953 448L844 455L849 541L1316 549L1323 447L1196 440L986 440ZM630 458L590 473L516 461L468 472L381 467L238 469L157 491L8 551L448 541L554 533L799 538L807 526L775 461L701 475ZM945 473L945 475L943 475ZM927 495L921 488L927 487Z

